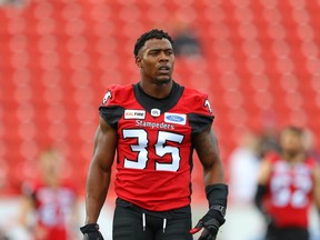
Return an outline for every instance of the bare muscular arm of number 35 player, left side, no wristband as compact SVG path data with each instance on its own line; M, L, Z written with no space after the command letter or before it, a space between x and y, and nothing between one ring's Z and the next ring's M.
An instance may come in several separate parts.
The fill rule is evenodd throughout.
M117 142L116 130L100 118L100 124L94 137L93 157L87 179L86 226L81 228L84 236L90 232L98 234L98 231L96 231L99 230L97 221L108 193ZM90 234L88 236L90 240L99 239L99 236L92 238Z

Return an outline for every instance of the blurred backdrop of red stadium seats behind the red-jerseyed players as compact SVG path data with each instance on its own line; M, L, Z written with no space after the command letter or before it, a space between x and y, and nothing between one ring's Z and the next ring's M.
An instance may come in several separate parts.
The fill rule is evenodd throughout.
M159 28L173 37L173 79L207 92L216 116L230 186L219 239L260 240L266 224L252 199L279 131L306 129L306 148L320 162L319 12L320 0L0 0L0 239L28 240L22 189L41 174L48 147L61 152L61 174L72 180L70 228L80 238L98 107L108 86L139 80L136 39ZM207 211L197 156L192 178L197 222ZM99 220L106 239L114 198L111 186ZM310 219L319 240L314 210Z

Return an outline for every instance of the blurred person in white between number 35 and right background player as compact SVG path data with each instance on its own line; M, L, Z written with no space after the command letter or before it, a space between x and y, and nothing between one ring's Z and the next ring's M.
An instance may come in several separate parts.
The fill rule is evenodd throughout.
M228 222L223 232L226 239L261 240L263 228L254 206L258 170L261 164L260 134L242 129L238 132L237 147L228 158L229 189ZM247 226L250 226L248 230Z

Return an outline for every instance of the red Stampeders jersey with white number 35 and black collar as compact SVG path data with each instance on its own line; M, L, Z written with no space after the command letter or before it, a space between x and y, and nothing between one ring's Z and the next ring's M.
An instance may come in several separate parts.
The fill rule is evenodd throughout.
M139 84L111 86L100 114L119 136L117 196L153 211L188 206L191 136L213 120L207 96L174 83L170 96L159 100Z

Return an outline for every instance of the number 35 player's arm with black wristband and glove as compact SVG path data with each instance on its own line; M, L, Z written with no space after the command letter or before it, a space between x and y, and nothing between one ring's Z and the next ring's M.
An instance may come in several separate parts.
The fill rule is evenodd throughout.
M204 228L200 239L216 239L220 226L224 223L228 186L217 137L211 126L194 136L193 142L203 168L203 181L210 209L190 232L196 233Z

